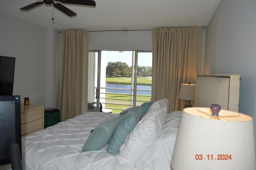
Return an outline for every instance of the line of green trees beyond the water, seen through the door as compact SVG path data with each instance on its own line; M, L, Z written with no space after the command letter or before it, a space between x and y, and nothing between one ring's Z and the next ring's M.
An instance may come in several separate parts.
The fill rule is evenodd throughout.
M152 67L138 66L137 76L151 77ZM129 77L132 75L132 67L129 67L125 62L108 62L106 66L106 76L108 77Z

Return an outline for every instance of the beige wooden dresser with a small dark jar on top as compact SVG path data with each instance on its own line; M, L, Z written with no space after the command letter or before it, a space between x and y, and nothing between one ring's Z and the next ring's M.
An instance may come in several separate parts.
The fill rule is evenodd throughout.
M26 136L44 128L44 106L21 106L21 135Z

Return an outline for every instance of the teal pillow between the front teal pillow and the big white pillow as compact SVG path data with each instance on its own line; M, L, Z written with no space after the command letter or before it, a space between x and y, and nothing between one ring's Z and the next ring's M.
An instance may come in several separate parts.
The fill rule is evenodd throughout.
M119 117L119 116L118 116ZM142 118L142 107L136 107L125 114L116 126L109 142L107 152L110 154L119 153L124 144L125 138Z

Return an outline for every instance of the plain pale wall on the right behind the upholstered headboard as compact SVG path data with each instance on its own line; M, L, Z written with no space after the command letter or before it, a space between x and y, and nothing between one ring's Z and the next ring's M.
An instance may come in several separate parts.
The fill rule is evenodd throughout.
M239 112L254 118L256 139L255 17L256 0L220 1L207 27L204 73L241 75Z

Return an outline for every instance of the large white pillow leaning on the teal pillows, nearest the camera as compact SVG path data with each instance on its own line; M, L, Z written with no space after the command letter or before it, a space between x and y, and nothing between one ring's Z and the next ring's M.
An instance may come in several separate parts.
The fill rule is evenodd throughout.
M158 100L150 106L146 115L126 136L125 142L120 148L118 160L121 164L135 162L146 154L164 125L167 110L167 99Z

